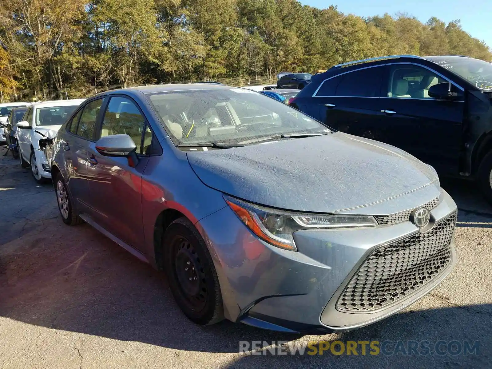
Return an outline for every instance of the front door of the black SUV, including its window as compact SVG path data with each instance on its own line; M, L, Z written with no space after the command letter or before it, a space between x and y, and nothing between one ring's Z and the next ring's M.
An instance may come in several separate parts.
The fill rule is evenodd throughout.
M464 93L458 85L454 100L429 97L429 88L447 78L415 63L386 66L381 99L384 135L381 141L431 164L439 173L458 174L463 147Z

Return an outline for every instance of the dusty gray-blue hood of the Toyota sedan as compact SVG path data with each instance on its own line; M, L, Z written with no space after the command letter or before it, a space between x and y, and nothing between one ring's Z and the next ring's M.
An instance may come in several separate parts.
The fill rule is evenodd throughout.
M341 132L188 152L187 157L212 188L301 212L340 212L438 183L435 170L410 154Z

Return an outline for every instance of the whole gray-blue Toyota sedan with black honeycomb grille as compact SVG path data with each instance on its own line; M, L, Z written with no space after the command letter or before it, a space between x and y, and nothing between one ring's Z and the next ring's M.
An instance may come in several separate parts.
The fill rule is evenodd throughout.
M456 204L430 166L257 92L105 92L52 150L63 221L163 270L198 324L346 331L415 302L456 261Z

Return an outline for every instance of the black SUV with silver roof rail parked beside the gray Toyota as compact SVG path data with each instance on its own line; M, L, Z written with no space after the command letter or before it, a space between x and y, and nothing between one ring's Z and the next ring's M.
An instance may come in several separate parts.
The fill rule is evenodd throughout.
M492 63L397 55L335 65L290 104L342 132L396 146L492 202ZM374 168L377 170L377 168Z

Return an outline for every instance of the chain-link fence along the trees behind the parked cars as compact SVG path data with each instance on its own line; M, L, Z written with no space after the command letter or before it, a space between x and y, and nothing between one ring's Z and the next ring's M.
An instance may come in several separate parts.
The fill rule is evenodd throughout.
M161 85L161 84L172 84L172 83L196 83L196 82L207 82L210 80L187 80L187 81L169 81L160 82L147 85ZM220 82L224 85L233 87L246 87L246 86L256 86L256 85L275 85L277 83L277 78L275 76L265 77L265 76L252 76L252 77L231 77L231 78L217 78L214 79L215 82ZM143 84L127 84L126 87L136 87L143 86ZM87 98L95 95L99 92L105 92L110 90L122 89L123 85L110 85L110 86L87 86L79 87L73 89L62 89L62 90L18 90L11 93L9 96L4 95L0 92L0 102L39 102L39 101L49 101L49 100L67 100L75 98Z

